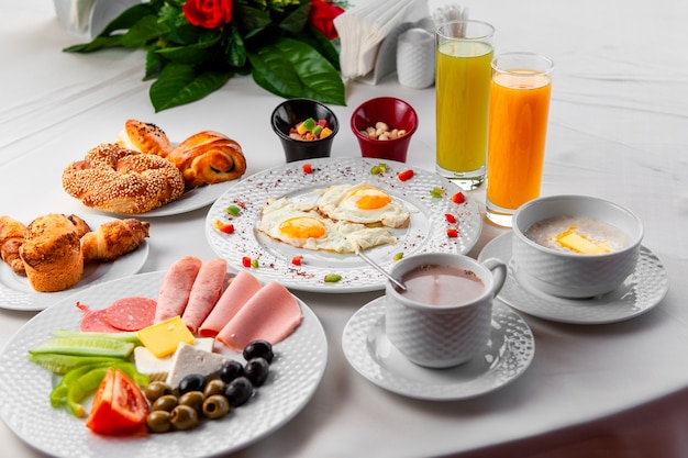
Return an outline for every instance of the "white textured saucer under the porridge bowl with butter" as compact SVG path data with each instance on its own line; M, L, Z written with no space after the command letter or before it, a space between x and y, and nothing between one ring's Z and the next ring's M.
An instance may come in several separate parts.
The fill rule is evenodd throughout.
M498 258L509 264L509 276L498 298L513 309L559 323L603 324L629 320L655 308L669 289L662 261L646 247L622 286L590 299L564 299L536 290L518 273L511 259L512 234L503 234L488 243L478 260Z

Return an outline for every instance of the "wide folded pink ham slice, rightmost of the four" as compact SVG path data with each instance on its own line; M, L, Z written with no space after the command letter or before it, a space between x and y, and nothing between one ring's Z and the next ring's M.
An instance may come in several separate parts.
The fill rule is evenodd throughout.
M266 283L218 333L217 339L234 351L253 340L275 345L301 324L301 308L287 288L276 281Z

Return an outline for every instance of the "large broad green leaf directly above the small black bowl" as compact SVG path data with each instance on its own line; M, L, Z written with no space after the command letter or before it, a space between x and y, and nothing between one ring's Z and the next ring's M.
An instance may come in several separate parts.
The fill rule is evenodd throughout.
M285 98L306 97L345 105L344 82L339 71L306 43L278 38L248 53L253 79L265 90Z

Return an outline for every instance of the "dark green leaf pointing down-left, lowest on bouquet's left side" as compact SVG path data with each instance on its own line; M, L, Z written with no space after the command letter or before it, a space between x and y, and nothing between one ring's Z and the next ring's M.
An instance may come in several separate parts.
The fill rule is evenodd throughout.
M197 70L191 65L170 63L151 86L151 102L156 112L191 103L220 89L231 76L229 70Z

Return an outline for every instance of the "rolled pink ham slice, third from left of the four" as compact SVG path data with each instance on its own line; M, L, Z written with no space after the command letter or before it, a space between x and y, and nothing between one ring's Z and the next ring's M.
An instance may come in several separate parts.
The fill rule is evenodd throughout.
M260 289L258 279L246 270L240 272L230 282L218 303L198 329L201 337L214 337L220 329L236 315L240 309Z

